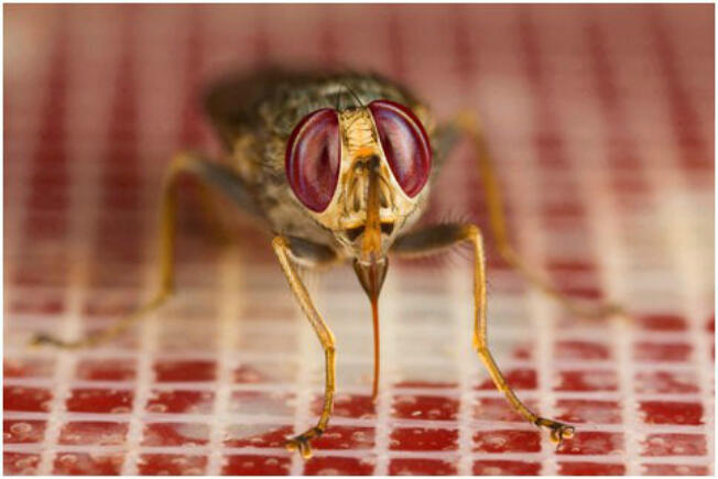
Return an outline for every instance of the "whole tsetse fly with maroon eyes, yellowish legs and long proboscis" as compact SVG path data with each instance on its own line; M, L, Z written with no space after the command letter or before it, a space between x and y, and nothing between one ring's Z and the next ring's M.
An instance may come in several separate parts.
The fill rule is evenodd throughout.
M412 226L426 208L433 178L461 138L475 148L491 232L502 258L530 283L583 316L619 308L585 305L563 296L529 269L511 247L502 202L479 123L470 113L437 126L429 109L407 89L377 75L270 70L230 76L207 90L206 111L226 149L222 162L180 153L166 172L161 206L156 295L112 327L75 341L39 335L35 344L65 348L113 338L163 304L174 291L176 185L181 175L221 192L274 233L272 248L294 297L325 353L324 407L316 426L289 438L304 458L327 428L335 394L335 338L297 274L297 264L351 262L372 309L374 377L379 377L378 298L389 257L420 257L468 243L474 253L474 346L496 387L526 421L551 432L559 445L574 427L526 407L507 383L487 344L487 289L481 231L476 225Z

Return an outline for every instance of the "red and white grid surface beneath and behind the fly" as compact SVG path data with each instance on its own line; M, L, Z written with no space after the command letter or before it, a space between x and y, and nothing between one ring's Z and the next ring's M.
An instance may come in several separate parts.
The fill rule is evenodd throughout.
M4 13L6 473L712 472L710 6ZM218 151L202 86L270 63L376 69L443 119L482 115L521 252L565 291L635 316L578 320L490 254L498 361L575 439L554 450L472 356L465 261L395 263L376 405L356 279L313 281L338 338L339 395L316 457L290 455L283 438L319 406L318 346L265 237L239 219L237 244L219 247L191 188L172 304L97 349L24 348L33 331L75 337L149 296L161 172L180 148ZM429 216L485 225L479 185L463 149Z

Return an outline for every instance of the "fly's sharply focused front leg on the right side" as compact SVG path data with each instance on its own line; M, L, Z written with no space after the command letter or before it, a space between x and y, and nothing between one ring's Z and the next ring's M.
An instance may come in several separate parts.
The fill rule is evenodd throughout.
M446 224L431 226L415 232L399 237L392 252L405 257L427 255L463 241L474 248L474 347L483 362L491 380L501 391L513 409L526 421L540 427L551 429L551 439L557 447L563 439L570 438L574 427L558 421L541 417L526 407L513 392L496 363L487 339L487 300L486 300L486 260L483 240L479 228L474 225Z

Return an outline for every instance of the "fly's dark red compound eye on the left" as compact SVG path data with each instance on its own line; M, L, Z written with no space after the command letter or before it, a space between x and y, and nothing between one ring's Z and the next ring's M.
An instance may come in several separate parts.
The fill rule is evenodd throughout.
M313 211L324 211L339 179L339 117L325 108L307 115L292 131L284 167L296 197Z

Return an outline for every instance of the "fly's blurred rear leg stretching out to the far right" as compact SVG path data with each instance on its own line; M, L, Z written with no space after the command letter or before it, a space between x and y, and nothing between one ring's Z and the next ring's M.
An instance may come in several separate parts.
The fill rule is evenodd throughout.
M452 123L439 129L438 146L444 150L440 152L444 153L440 156L445 156L450 148L456 144L460 137L459 133L467 134L474 143L489 208L491 232L497 242L497 248L501 258L503 258L503 260L509 263L511 268L518 271L530 284L537 287L547 296L553 297L563 307L578 316L587 318L600 318L613 315L627 316L625 311L616 304L601 303L597 305L588 305L581 301L568 297L547 281L541 273L536 272L524 262L509 240L499 182L497 181L496 170L476 115L471 112L459 115Z

